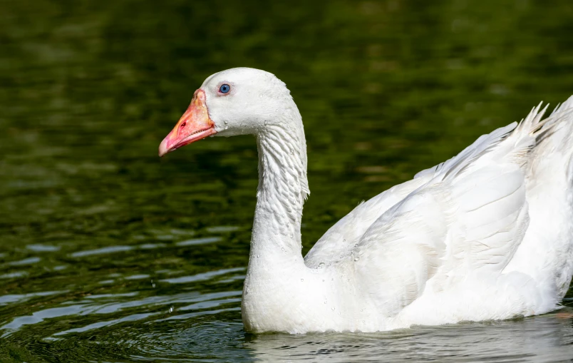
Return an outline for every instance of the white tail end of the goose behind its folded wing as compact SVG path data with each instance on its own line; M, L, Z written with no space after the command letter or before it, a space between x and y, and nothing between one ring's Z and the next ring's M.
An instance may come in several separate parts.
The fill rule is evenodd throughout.
M557 302L573 273L573 96L534 123L530 135L535 137L527 172L530 227L509 270L554 289Z

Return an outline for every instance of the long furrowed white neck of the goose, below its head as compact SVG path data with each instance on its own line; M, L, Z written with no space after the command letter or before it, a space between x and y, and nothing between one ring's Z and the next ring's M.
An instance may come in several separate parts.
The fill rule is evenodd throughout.
M249 270L276 260L302 261L302 205L309 194L306 141L296 106L257 135L259 186Z

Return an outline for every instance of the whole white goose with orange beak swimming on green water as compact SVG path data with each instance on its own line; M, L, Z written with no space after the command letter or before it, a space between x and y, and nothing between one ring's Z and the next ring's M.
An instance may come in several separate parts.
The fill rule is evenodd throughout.
M248 332L507 319L559 307L573 273L573 97L541 121L546 108L358 205L304 258L306 141L274 75L233 68L207 78L159 154L210 135L256 136Z

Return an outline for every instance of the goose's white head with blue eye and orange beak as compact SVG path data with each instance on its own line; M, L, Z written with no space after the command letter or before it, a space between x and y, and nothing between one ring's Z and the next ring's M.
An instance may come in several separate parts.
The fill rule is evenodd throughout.
M215 73L195 91L187 111L160 144L159 155L207 136L257 135L273 124L288 123L281 116L293 108L289 90L272 73L254 68Z

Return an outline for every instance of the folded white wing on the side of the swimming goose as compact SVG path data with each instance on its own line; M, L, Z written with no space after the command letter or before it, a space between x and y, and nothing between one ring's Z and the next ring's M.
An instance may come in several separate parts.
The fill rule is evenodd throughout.
M366 230L356 273L387 316L420 297L428 280L440 290L468 274L499 273L511 260L529 225L525 175L540 108L418 173L425 183Z

